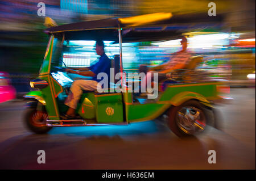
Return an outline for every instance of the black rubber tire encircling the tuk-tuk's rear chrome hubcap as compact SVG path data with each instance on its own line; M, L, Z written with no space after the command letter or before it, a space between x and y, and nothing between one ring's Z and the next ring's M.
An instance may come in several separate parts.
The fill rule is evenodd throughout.
M180 121L179 116L182 115L180 113L180 110L183 110L187 107L195 108L197 111L199 110L200 119L204 120L204 121L201 121L201 122L199 120L196 120L195 121L196 124L193 123L193 124L197 125L197 126L194 126L194 127L195 127L195 129L199 129L198 132L195 131L195 132L191 133L191 132L187 131L187 129L184 129L184 127L181 127L181 124L179 123L179 121ZM190 111L189 111L189 113L190 113ZM176 134L176 136L181 137L181 138L182 137L195 136L196 134L205 131L205 128L207 128L207 120L208 120L208 113L207 113L204 105L201 104L197 100L188 100L187 102L181 104L180 106L173 106L173 107L170 108L170 110L168 112L168 126L170 127L171 131ZM200 125L199 125L199 123L200 123ZM189 123L189 124L192 124L192 123ZM197 128L197 127L199 127L199 128Z

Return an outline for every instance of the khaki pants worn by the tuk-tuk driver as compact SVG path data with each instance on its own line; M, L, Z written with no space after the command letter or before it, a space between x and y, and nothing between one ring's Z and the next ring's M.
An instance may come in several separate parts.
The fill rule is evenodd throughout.
M79 102L79 99L81 98L82 91L94 91L97 90L97 81L91 81L91 80L77 80L72 83L72 86L70 88L68 98L65 100L65 105L68 107L71 107L73 109L76 109L77 103Z

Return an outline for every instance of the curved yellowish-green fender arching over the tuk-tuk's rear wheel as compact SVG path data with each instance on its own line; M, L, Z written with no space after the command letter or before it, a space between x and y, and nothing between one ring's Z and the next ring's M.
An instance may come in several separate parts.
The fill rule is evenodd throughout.
M170 100L170 102L174 106L180 106L181 104L183 104L187 100L191 100L191 99L197 99L201 103L205 104L206 106L209 106L209 104L210 104L210 102L203 95L198 94L196 92L189 92L189 91L185 91L185 92L181 92L179 94L176 94Z

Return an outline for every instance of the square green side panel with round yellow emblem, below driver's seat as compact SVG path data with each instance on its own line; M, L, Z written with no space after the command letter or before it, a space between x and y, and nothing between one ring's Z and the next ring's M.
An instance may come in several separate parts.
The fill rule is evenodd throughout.
M95 95L98 123L123 122L122 94Z

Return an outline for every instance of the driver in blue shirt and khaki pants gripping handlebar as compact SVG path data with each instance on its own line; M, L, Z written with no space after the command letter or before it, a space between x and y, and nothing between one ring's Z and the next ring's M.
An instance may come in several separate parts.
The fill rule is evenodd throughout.
M77 80L72 83L71 89L69 91L69 95L65 100L65 105L67 105L68 111L63 115L60 115L61 119L74 119L76 117L76 107L77 103L80 100L82 95L82 91L94 91L97 90L98 82L101 79L97 79L98 73L106 73L109 77L110 65L111 61L108 56L106 56L104 51L104 43L102 40L96 41L96 53L101 56L99 61L88 67L88 68L67 68L65 71L73 74L79 74L86 77L92 77L91 80Z

